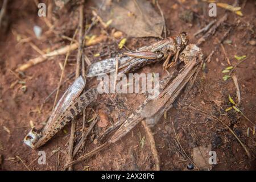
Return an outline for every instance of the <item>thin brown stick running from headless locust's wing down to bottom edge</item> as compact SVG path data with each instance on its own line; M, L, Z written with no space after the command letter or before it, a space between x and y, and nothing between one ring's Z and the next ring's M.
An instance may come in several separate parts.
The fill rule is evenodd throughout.
M155 146L154 135L152 134L151 129L149 127L147 127L146 122L144 120L142 121L142 125L143 125L144 129L146 130L146 133L150 140L150 149L151 149L152 155L155 159L155 170L160 171L160 161L159 161L158 151L156 150L156 146Z

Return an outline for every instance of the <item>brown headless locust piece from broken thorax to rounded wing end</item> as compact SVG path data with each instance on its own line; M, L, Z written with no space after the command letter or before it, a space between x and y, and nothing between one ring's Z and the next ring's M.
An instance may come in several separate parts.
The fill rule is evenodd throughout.
M172 107L172 103L189 81L193 85L203 63L203 53L196 44L189 44L180 53L179 59L185 64L179 75L159 94L158 98L148 102L141 111L141 117L146 119L148 127L155 126L164 112Z

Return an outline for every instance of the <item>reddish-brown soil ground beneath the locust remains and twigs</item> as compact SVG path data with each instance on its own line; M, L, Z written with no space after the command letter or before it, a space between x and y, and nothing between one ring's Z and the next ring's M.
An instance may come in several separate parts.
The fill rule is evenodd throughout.
M197 1L186 1L184 5L198 11L203 19L211 20L203 9L207 10L207 3L196 3ZM233 4L233 1L221 1ZM240 1L240 6L243 1ZM179 18L179 13L184 10L184 7L177 4L175 1L159 1L162 7L164 17L166 18L166 26L168 36L174 35L176 32L186 31L190 36L190 42L195 43L197 38L193 34L198 31L205 24L200 18L194 18L192 24L185 23ZM85 16L92 17L89 6L94 6L93 3L87 2L85 5ZM73 11L73 13L70 13ZM64 32L65 35L72 37L78 22L78 8L73 6L66 14L56 20L54 23L57 32ZM217 18L222 17L225 13L228 14L227 22L233 24L232 31L226 40L232 40L232 44L225 44L225 51L230 59L232 65L237 63L234 55L246 55L247 59L241 63L234 71L238 78L240 86L242 102L240 109L251 121L256 121L256 62L255 62L255 46L249 44L250 40L255 40L255 1L247 1L242 7L243 17L239 17L230 11L224 9L217 9ZM26 62L32 57L39 55L28 43L17 42L17 34L30 37L31 42L36 44L40 49L47 48L55 49L60 46L69 44L63 39L57 38L55 34L46 35L42 40L35 38L32 32L33 26L36 24L43 27L43 35L48 30L46 23L42 18L37 16L37 8L34 1L13 1L7 6L7 15L9 25L1 28L1 42L0 42L0 155L2 155L2 163L0 162L0 169L2 170L57 170L67 163L67 143L69 140L70 126L65 127L65 131L59 132L49 142L47 142L39 150L31 150L23 144L23 138L30 130L30 121L36 126L42 125L51 113L53 100L52 97L47 104L44 104L41 112L36 108L40 107L44 99L56 88L60 78L61 70L59 63L64 63L65 56L56 56L51 60L47 60L42 64L38 64L24 72L25 76L22 78L26 81L27 91L22 92L21 84L16 84L13 88L10 85L17 80L17 77L10 71L14 71L19 64ZM70 17L73 17L72 20ZM240 20L238 23L237 21ZM201 23L201 25L200 25ZM171 31L174 30L174 31ZM227 27L221 26L206 43L201 46L205 57L212 51L217 43L217 39L225 33ZM93 28L90 34L100 35L100 25ZM134 49L143 45L148 45L155 42L156 38L129 38L127 40L127 47ZM110 46L109 46L110 45ZM106 47L109 46L110 50ZM55 47L55 48L54 48ZM94 53L101 53L104 57L113 56L110 53L118 52L118 47L112 40L102 42L89 49L85 49L86 55L93 61L99 60L98 57L93 57ZM75 71L75 61L77 52L73 51L69 59L69 64L65 69L65 77ZM218 60L218 61L217 61ZM212 150L217 152L217 165L213 170L248 170L256 169L255 163L255 138L256 135L250 133L247 137L247 128L251 127L249 123L240 113L234 110L225 112L225 109L230 106L228 95L232 96L236 101L236 87L232 79L223 81L222 70L228 67L225 60L225 55L218 47L213 54L212 61L206 63L204 71L201 71L197 77L197 81L193 89L189 93L189 98L183 100L183 94L175 102L174 107L167 112L167 119L160 119L159 123L152 129L156 142L156 148L160 157L160 169L162 170L187 170L189 160L185 158L183 152L177 147L175 143L175 135L172 127L172 122L175 122L175 129L179 135L180 143L185 152L189 156L192 155L192 150L197 146L212 145ZM166 75L162 69L162 63L156 63L144 67L138 71L160 73L160 77ZM67 89L68 85L73 80L69 81L61 87L61 94ZM96 78L90 78L87 81L86 89L92 85L96 85ZM137 94L120 94L114 96L118 104L125 107L122 110L119 118L124 118L131 113L137 106L139 106L144 99L144 96ZM108 96L100 96L98 100L91 104L86 109L86 120L92 118L94 109L96 112L100 107L108 108L110 120L117 121L115 115L117 110L111 106L112 102ZM242 148L238 140L230 133L225 126L223 126L216 119L210 119L200 112L189 110L185 105L190 105L198 109L207 111L221 119L228 125L245 144L251 154L248 158L245 150ZM81 128L82 117L77 119L77 126ZM87 126L89 127L89 126ZM10 133L5 130L10 130ZM93 130L93 135L98 135L102 129L97 125ZM80 130L77 134L81 135ZM142 148L139 143L139 136L145 136L145 145ZM79 152L79 156L86 154L86 152L97 147L98 143L93 142L93 137L86 140L85 147ZM55 154L52 151L60 149ZM47 155L46 165L39 165L37 162L38 151L45 151ZM17 158L18 156L18 158ZM22 159L23 163L19 160ZM77 156L76 156L77 158ZM75 158L75 159L76 159ZM73 166L76 170L84 169L89 166L90 170L153 170L154 158L150 150L149 140L144 131L143 126L139 123L133 131L127 134L112 146L99 152L92 158L85 160Z

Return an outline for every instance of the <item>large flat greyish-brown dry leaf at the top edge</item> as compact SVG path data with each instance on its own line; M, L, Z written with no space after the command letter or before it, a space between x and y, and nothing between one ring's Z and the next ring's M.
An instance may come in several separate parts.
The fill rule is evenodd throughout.
M97 0L96 4L101 7L98 12L101 19L104 22L112 19L110 27L125 32L128 37L159 37L162 34L162 16L156 13L151 3L146 0Z

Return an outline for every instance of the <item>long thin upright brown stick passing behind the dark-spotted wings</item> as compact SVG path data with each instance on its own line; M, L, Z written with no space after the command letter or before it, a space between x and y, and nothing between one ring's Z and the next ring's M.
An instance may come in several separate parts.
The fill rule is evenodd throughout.
M77 64L76 64L76 78L80 75L80 65L81 65L81 56L82 56L82 46L83 46L83 24L84 24L84 1L81 2L79 7L79 49L77 52ZM73 160L73 146L74 146L74 139L75 139L75 131L76 131L76 123L75 120L71 122L71 133L69 138L69 145L68 145L68 155L69 160L72 162ZM72 166L68 168L69 171L72 171Z

